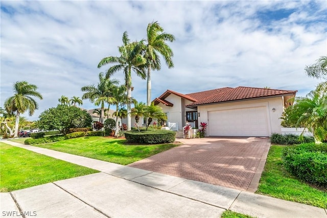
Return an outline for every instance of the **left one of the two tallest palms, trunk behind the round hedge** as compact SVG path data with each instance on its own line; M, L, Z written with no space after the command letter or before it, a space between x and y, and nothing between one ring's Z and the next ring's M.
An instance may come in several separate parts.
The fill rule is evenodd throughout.
M137 76L142 79L146 78L145 63L146 60L141 55L141 50L135 50L137 42L130 42L128 34L125 31L123 34L123 45L119 47L120 57L106 57L103 58L98 64L98 68L107 65L115 64L111 66L107 72L106 77L110 77L115 72L123 70L125 76L125 85L127 88L127 96L129 99L132 98L132 76L131 71L133 70ZM127 130L131 130L131 101L127 103Z

